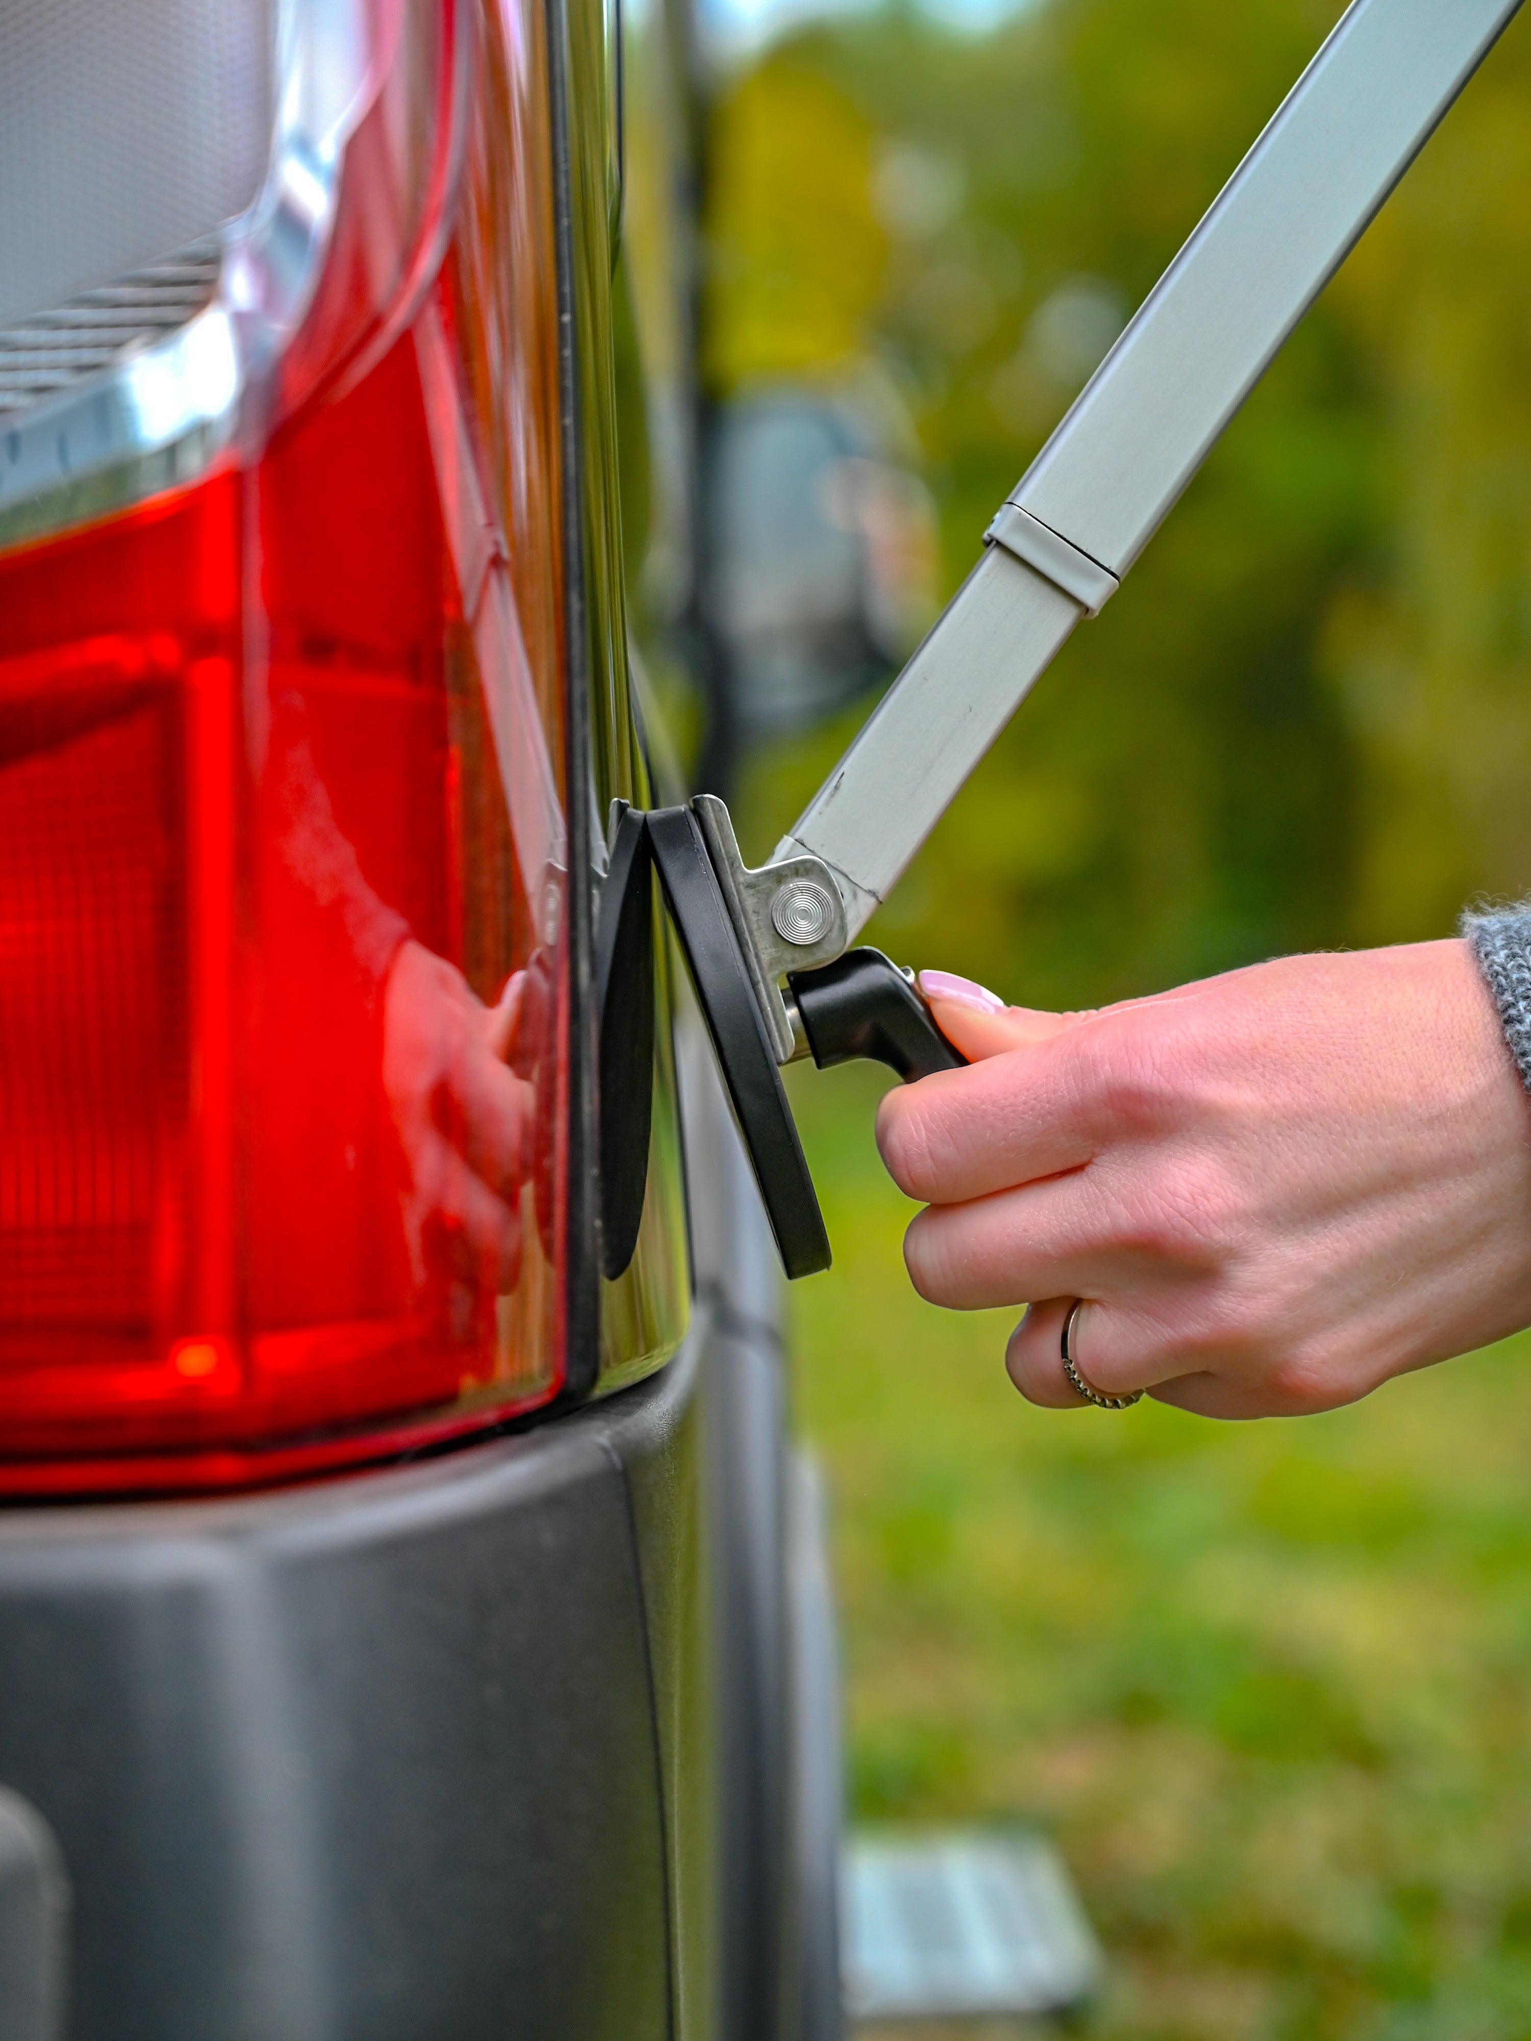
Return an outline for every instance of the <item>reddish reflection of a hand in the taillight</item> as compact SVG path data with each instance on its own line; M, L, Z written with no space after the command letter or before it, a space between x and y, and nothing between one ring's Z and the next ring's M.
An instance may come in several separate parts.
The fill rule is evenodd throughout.
M414 941L388 972L382 1080L408 1172L416 1282L455 1276L500 1296L516 1284L535 1112L533 1086L504 1063L521 992L516 974L500 1004L484 1006L461 972Z

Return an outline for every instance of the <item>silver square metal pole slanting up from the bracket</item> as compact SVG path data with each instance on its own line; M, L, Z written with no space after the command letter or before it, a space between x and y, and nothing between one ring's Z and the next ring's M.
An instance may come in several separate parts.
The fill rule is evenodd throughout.
M988 551L776 855L849 939L1108 600L1521 0L1355 0L1000 506Z

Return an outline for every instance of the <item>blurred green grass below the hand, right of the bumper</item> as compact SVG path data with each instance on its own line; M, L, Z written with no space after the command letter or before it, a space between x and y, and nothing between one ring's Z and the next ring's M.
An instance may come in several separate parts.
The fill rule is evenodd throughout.
M794 1088L855 1819L1051 1833L1113 2041L1529 2035L1531 1343L1296 1423L1033 1410L1010 1316L908 1286L878 1092Z

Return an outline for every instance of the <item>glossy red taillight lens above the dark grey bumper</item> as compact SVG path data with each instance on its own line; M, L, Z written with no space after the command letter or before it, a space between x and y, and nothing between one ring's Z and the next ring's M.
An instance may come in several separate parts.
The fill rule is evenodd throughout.
M410 237L433 273L374 261L369 312L357 249L398 208L353 143L349 267L298 347L329 392L0 557L10 1492L286 1476L561 1382L541 8L478 33L455 210Z

